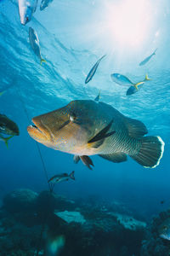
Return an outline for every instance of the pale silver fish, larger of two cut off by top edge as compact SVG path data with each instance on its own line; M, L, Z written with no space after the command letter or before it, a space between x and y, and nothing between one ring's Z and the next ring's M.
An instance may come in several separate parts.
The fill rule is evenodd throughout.
M31 20L32 14L37 9L37 0L18 0L20 23L26 25Z

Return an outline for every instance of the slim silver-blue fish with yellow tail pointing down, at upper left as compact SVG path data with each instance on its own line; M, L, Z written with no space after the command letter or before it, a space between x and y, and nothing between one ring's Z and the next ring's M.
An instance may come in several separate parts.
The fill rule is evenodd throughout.
M37 57L40 59L41 65L42 65L42 62L46 62L46 61L42 59L37 32L31 27L29 27L29 40L31 44L31 49L33 49L35 55L37 55Z

